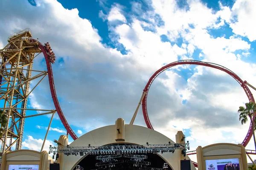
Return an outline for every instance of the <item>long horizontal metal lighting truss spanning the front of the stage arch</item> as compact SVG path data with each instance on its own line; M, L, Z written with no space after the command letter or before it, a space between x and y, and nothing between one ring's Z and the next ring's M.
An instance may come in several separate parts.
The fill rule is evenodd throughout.
M175 149L183 149L186 152L186 149L189 149L189 143L183 144L147 144L147 145L111 145L111 146L88 146L88 147L49 147L49 153L65 153L70 155L73 153L78 155L80 152L89 153L89 154L117 154L120 152L124 153L162 153L171 152Z

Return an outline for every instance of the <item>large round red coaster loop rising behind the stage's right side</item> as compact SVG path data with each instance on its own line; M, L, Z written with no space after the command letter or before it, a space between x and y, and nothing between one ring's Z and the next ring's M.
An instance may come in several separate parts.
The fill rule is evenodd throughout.
M146 92L145 94L145 97L143 98L143 101L142 101L142 110L143 110L143 116L144 116L144 119L145 119L145 123L147 125L148 128L150 129L153 129L152 125L151 125L151 122L149 120L149 117L148 117L148 111L147 111L147 97L148 97L148 90L152 84L152 82L154 81L154 79L156 79L156 77L161 74L163 71L165 71L166 69L168 68L171 68L173 66L176 66L176 65L184 65L184 64L191 64L191 65L202 65L202 66L207 66L207 67L211 67L211 68L216 68L218 70L221 70L221 71L224 71L226 72L227 74L229 74L231 77L233 77L234 79L236 79L237 82L239 82L239 84L241 85L241 87L244 89L248 99L250 102L255 102L254 98L253 98L253 94L251 93L250 89L247 87L246 83L240 78L238 77L233 71L221 66L221 65L218 65L218 64L214 64L214 63L211 63L211 62L202 62L202 61L197 61L197 60L180 60L180 61L176 61L176 62L172 62L168 65L165 65L163 66L162 68L160 68L159 70L157 70L151 77L150 79L148 80L148 83L147 85L145 86L144 90ZM254 113L254 116L256 116L256 113ZM244 141L242 142L243 146L245 147L251 137L253 135L253 130L252 130L252 124L250 124L250 127L249 127L249 130L247 132L247 135L245 136L244 138ZM197 164L195 164L197 165ZM197 166L196 166L197 167Z

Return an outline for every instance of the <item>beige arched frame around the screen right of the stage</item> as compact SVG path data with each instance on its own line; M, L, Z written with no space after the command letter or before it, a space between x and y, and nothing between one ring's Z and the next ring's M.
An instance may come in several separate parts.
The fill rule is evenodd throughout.
M196 149L198 170L207 170L206 160L239 159L240 170L248 170L246 151L241 144L218 143Z

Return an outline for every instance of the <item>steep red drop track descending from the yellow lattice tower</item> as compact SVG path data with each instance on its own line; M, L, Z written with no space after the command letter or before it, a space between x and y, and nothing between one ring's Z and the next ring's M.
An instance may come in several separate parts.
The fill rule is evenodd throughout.
M65 118L65 116L64 116L64 114L63 114L63 112L61 110L61 106L60 106L60 104L58 102L58 97L57 97L57 94L56 94L56 91L55 91L54 79L53 79L53 74L52 74L52 64L49 62L48 55L47 55L47 53L46 53L46 51L44 49L45 46L41 42L39 42L38 40L34 40L34 39L30 39L30 40L38 42L38 46L41 49L41 51L43 52L43 54L44 54L44 58L45 58L46 65L47 65L49 86L50 86L50 90L51 90L52 100L53 100L54 106L56 108L58 116L60 117L61 122L64 125L65 129L70 134L70 136L74 140L76 140L77 136L76 136L75 132L71 129L70 125L68 124L68 122L67 122L67 120L66 120L66 118Z

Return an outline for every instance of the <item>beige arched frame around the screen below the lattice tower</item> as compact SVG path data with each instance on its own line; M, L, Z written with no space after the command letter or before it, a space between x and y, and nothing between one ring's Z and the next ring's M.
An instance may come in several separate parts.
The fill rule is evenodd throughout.
M39 165L39 170L47 170L47 151L15 150L6 152L2 158L1 170L8 170L10 164Z

